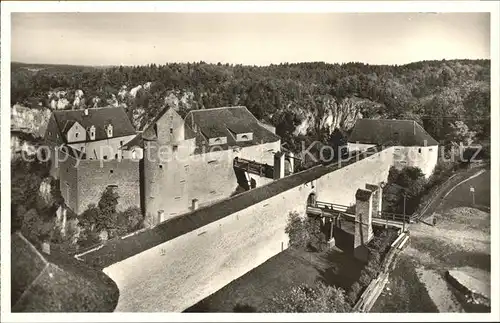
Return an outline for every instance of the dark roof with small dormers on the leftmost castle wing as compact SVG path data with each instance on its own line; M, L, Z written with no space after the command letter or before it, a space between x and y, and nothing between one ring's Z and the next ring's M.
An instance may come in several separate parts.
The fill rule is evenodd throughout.
M59 129L52 129L54 132L64 134L69 128L78 122L83 128L88 129L94 126L96 129L95 140L108 138L106 125L113 125L113 137L123 137L135 134L135 129L123 108L106 107L88 109L89 114L84 115L84 110L58 110L54 111L54 118Z

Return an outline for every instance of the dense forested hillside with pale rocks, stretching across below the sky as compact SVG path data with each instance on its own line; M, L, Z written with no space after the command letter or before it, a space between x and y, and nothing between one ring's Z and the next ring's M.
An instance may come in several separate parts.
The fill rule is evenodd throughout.
M413 119L442 142L461 121L460 131L465 127L474 139L484 140L490 133L490 61L263 67L12 64L12 104L50 107L54 99L64 99L57 107L64 109L122 105L139 130L166 105L181 115L190 109L244 105L295 148L302 139L325 140L337 128L349 131L359 117Z

